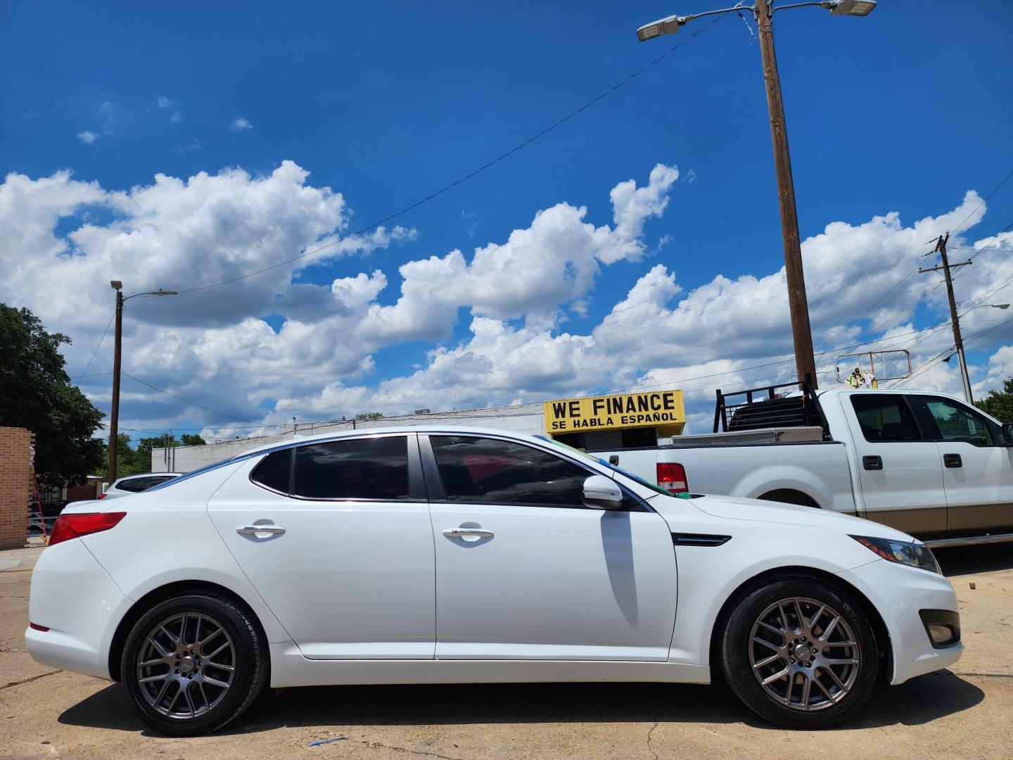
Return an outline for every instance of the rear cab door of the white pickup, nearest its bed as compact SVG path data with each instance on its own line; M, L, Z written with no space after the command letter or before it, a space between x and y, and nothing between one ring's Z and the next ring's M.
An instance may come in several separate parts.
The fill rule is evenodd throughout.
M916 536L946 530L943 467L915 413L897 393L842 394L855 442L864 517Z

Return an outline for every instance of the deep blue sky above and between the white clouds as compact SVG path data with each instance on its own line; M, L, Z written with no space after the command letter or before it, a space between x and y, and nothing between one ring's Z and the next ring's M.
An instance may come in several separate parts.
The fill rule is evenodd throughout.
M307 185L341 195L344 216L339 231L348 232L524 142L684 42L709 19L645 44L634 33L640 24L670 13L710 8L658 2L586 3L578 8L525 2L3 3L0 168L31 181L69 170L71 181L97 182L103 193L115 194L151 185L156 174L185 180L199 172L217 175L239 167L255 178L291 161L309 172ZM643 220L638 238L642 253L603 264L593 287L560 303L545 335L591 334L656 264L665 264L683 289L679 296L671 294L676 299L671 307L695 288L711 284L718 274L731 280L773 275L782 261L781 233L753 26L752 19L724 17L543 138L387 225L403 225L410 234L303 268L295 280L325 286L379 270L387 287L375 303L391 306L399 296L399 265L454 249L470 259L474 248L502 244L513 230L529 228L540 210L564 203L587 207L586 222L611 225L610 191L630 178L637 186L647 184L658 163L678 166L679 178L665 188L669 201L664 213ZM883 0L867 18L832 17L819 8L785 11L777 14L775 28L803 238L820 235L835 222L857 227L889 212L898 213L902 228L960 208L973 213L981 198L1013 170L1010 3L976 0L956 6ZM981 198L961 207L969 189ZM14 214L15 206L0 211ZM67 244L65 257L97 255L94 248L82 253L78 242L65 237L82 224L133 223L133 211L107 198L78 200L70 207L57 215L53 227L56 239ZM954 242L973 247L1013 222L1013 181L1000 187L982 213L982 221ZM242 219L231 223L241 224ZM265 224L271 226L269 220ZM221 234L231 229L222 224ZM317 232L307 242L320 237L324 233ZM19 240L18 245L26 245L26 238ZM993 251L1006 245L1003 238ZM42 260L49 254L46 246L15 248L5 254L22 263L26 257ZM172 255L170 248L164 247L165 255ZM267 245L248 263L252 269L269 265L301 248ZM861 241L852 241L840 261L834 259L835 265L847 264L848 256L861 257L862 251ZM817 254L811 254L811 261L806 255L806 267L820 269ZM997 265L1003 259L992 257ZM183 290L207 284L208 273L200 263L182 258L176 267L161 265L158 282L132 281L130 271L120 273L120 279L128 282L128 290L135 283L141 289ZM880 263L894 265L891 259L870 265ZM137 265L138 273L147 272ZM96 282L112 276L111 270L96 274ZM986 277L982 288L999 276L1005 277L1003 271ZM890 281L882 283L885 291ZM905 293L909 285L918 287L905 284ZM278 290L277 284L265 282L263 287ZM877 283L869 280L863 288L875 295ZM917 298L924 291L910 292ZM89 293L94 312L82 309L73 319L48 313L49 302L73 294L47 292L43 282L28 292L0 295L5 302L29 306L52 321L53 328L74 336L69 365L72 371L83 371L107 319L102 300L108 301L110 294ZM1013 300L1011 296L1008 292L1006 299ZM226 287L216 297L219 305L227 306L233 296ZM185 299L171 299L174 305L163 299L166 303L156 310L149 305L138 310L138 319L151 329L138 332L137 338L147 346L164 340L158 329L173 323L214 330L229 322L225 306L214 319L190 319L200 307ZM574 301L580 302L578 308L571 308ZM828 315L835 315L833 303L826 307ZM936 300L927 298L923 307L902 315L904 323L910 320L915 329L924 328L945 315L938 307ZM845 335L851 334L847 320L860 313L860 308L841 305L837 316ZM499 312L510 329L523 328L524 314L523 309ZM237 309L235 321L243 318L266 320L277 330L292 316L285 309L261 306ZM460 304L459 316L452 321L452 332L439 339L426 335L377 341L368 352L365 374L354 382L335 379L341 387L363 389L348 403L369 403L370 388L384 379L410 375L431 361L430 352L438 345L454 347L474 339L468 304ZM539 326L545 324L543 318ZM858 338L871 336L858 333ZM977 381L995 384L993 376L1005 365L996 369L989 363L1009 341L1010 332L1000 330L973 347ZM777 347L746 344L729 345L726 356L702 357L700 364L749 358L745 367L759 364L756 356L782 356ZM108 369L104 349L103 343L90 371ZM621 349L611 355L621 359L616 351ZM363 359L354 354L347 354L348 361ZM125 366L177 366L171 351L148 356L155 364L125 359ZM307 354L304 359L309 363L320 357ZM687 370L696 366L686 359L676 364ZM1013 367L1013 358L1010 361ZM232 360L232 366L258 364L248 354ZM259 422L250 416L254 411L275 411L272 419L281 419L283 412L276 406L287 395L284 387L266 395L249 391L239 402L215 389L221 387L222 376L204 375L216 378L212 388L192 374L203 366L197 359L184 365L190 375L163 374L160 387L171 385L177 395L214 408L224 404L244 419ZM630 382L640 383L649 379L651 370L666 367L631 362L624 369L632 373ZM156 375L145 377L158 384ZM505 375L499 385L510 385L511 377ZM653 377L664 380L657 372ZM106 380L95 377L82 385L100 406ZM952 377L936 380L954 389L947 384ZM470 398L475 403L533 400L541 391L542 397L552 397L564 390L609 389L609 376L589 377L572 387L520 382L517 393L500 389ZM130 407L124 414L138 429L227 423L143 386L134 390L136 394L125 400ZM322 385L303 391L320 397L297 413L346 413L338 408L347 405L345 400L328 405ZM418 405L402 400L406 408ZM389 398L383 404L396 410Z

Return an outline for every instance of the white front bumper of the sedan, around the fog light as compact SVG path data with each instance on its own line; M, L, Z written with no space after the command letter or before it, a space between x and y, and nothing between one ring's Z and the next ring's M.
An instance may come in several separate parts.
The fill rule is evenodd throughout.
M884 559L838 575L875 605L886 624L893 662L891 684L941 670L960 659L963 644L958 640L937 648L923 620L925 611L945 612L947 620L955 619L959 631L956 593L945 577Z

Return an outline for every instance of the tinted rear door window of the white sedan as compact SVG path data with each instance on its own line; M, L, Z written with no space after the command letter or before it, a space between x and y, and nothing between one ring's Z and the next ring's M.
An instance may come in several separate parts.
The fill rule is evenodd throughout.
M408 499L404 436L330 441L296 449L293 491L306 499Z

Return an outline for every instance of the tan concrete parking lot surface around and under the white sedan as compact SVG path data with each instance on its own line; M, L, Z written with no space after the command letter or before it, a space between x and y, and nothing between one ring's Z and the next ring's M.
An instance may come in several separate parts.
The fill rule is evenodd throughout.
M22 634L40 551L0 552L2 757L1013 757L1013 545L937 552L960 600L963 658L879 687L860 719L840 729L773 728L722 686L356 686L267 692L199 739L156 736L119 684L28 657ZM324 740L334 741L313 744Z

